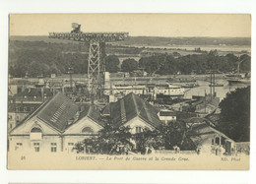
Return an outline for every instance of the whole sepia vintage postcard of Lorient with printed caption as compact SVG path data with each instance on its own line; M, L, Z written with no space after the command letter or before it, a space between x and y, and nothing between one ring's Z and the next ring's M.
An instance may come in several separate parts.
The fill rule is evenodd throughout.
M9 169L246 170L251 16L11 14Z

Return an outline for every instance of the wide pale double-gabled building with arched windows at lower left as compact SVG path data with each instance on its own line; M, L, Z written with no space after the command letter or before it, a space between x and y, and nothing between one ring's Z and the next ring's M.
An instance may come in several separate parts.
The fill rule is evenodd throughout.
M72 152L76 143L97 135L102 127L95 106L79 106L59 92L10 132L9 151Z

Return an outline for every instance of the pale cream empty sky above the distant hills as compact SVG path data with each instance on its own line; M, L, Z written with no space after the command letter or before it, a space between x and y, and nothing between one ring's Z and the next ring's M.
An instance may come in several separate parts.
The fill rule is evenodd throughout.
M250 37L249 14L11 14L10 35L71 31L129 31L139 36Z

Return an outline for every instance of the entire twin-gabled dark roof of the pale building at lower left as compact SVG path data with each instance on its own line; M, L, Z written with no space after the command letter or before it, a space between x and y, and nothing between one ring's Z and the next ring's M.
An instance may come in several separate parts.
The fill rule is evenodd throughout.
M66 128L85 116L94 120L98 125L103 126L96 106L85 104L81 109L83 110L80 110L80 106L74 103L69 97L58 92L51 99L42 103L19 126L32 117L37 117L55 130L64 132Z

